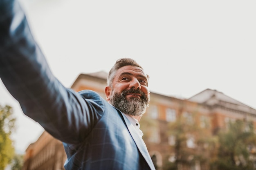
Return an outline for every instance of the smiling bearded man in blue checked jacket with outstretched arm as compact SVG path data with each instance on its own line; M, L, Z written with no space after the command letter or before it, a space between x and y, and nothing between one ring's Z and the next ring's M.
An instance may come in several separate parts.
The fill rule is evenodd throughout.
M140 65L115 63L106 101L54 77L15 0L0 0L0 37L0 77L23 112L63 142L66 170L155 169L139 130L150 95Z

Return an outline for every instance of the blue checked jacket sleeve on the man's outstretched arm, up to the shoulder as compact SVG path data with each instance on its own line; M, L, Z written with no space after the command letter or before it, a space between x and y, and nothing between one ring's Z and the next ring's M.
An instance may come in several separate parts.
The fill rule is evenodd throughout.
M63 142L83 140L103 113L101 98L83 98L54 77L16 0L0 0L0 77L23 112Z

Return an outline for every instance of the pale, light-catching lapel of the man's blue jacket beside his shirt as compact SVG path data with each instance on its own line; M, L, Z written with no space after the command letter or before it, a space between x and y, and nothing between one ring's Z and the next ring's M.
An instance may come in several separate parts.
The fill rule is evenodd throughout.
M148 165L150 166L151 169L155 169L155 166L152 162L152 159L148 153L148 149L146 147L146 144L144 143L143 139L141 139L141 137L139 137L139 135L137 134L137 131L135 130L134 126L132 125L132 123L130 122L130 120L128 120L128 118L126 118L126 116L124 116L123 114L121 114L124 118L124 121L126 122L127 128L135 142L135 144L137 145L139 151L141 152L141 155L144 157L144 159L146 160L146 162L148 163Z

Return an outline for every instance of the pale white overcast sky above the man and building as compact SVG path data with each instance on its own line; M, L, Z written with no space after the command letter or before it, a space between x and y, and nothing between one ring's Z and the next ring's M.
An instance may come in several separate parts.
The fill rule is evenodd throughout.
M130 57L150 90L189 98L216 89L256 108L256 1L20 0L53 74L70 87L81 73L108 72ZM0 105L17 118L24 152L43 129L22 114L0 82Z

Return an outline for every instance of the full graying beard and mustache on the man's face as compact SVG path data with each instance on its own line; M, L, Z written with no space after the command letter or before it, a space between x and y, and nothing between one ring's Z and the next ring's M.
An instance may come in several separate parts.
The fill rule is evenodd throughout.
M126 98L127 93L139 93L141 98L131 97ZM119 109L122 113L132 116L142 116L148 107L149 98L139 89L124 90L121 94L114 92L110 96L110 104Z

